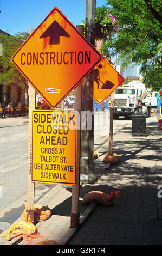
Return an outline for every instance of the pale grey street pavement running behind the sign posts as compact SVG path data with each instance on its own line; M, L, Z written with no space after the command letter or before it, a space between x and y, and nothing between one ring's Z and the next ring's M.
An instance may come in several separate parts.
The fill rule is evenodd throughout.
M154 119L154 118L153 118ZM152 121L147 118L147 121ZM114 120L113 135L124 127L131 127L132 120ZM27 200L28 170L28 118L5 118L0 120L0 233L21 216ZM108 142L109 112L94 114L94 149ZM35 203L55 185L35 183ZM0 194L0 195L1 195Z

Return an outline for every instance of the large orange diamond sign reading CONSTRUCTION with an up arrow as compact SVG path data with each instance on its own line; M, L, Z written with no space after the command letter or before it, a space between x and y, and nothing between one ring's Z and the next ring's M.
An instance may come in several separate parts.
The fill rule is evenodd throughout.
M54 109L102 58L55 7L17 50L12 62Z

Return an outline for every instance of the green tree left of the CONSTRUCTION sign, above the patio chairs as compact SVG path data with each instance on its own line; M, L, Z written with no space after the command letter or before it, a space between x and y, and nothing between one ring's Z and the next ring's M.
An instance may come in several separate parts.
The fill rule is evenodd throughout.
M17 49L28 38L29 33L18 32L15 36L0 34L0 42L3 47L3 56L0 57L0 83L9 84L17 81L22 87L23 91L27 93L28 97L28 82L24 76L12 64L12 56Z

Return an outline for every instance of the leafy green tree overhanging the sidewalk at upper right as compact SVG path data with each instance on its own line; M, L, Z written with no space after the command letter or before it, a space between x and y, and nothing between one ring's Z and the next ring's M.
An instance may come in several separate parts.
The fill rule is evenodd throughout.
M101 51L118 54L122 68L134 62L147 87L160 90L161 4L159 0L107 0L108 11L116 16L118 31L103 45Z

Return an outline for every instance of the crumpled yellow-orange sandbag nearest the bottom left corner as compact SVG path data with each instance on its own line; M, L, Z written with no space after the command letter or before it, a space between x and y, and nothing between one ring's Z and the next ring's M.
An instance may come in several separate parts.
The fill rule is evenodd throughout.
M22 237L23 240L32 240L42 237L42 235L38 233L37 227L32 222L27 221L15 222L2 236L8 241L17 236Z

